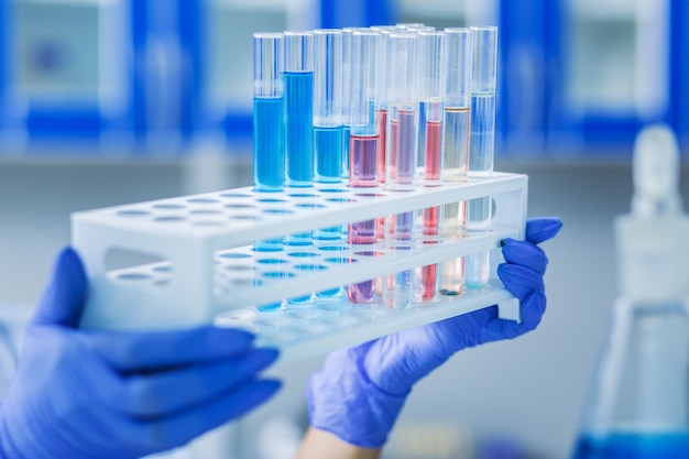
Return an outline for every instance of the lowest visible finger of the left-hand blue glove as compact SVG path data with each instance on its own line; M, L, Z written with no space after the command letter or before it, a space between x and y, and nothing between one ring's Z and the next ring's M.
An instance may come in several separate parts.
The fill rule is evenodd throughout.
M151 452L177 447L244 415L280 387L276 380L249 381L177 415L157 420L133 420L127 429L127 438L151 447Z

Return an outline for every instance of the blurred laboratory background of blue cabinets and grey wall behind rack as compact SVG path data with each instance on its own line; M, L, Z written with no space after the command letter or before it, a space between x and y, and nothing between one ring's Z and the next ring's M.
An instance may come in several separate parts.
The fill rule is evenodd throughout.
M73 211L251 184L253 32L397 22L500 28L495 170L528 174L529 216L565 226L539 328L422 381L385 458L568 458L641 127L675 130L689 201L685 0L0 0L0 307L31 312ZM321 361L275 370L228 458L291 456Z

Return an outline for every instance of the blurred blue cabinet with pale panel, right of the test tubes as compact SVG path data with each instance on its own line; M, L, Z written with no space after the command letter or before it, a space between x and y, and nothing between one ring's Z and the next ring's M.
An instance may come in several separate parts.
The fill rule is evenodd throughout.
M682 0L503 0L504 146L627 155L646 123L686 135L688 21Z

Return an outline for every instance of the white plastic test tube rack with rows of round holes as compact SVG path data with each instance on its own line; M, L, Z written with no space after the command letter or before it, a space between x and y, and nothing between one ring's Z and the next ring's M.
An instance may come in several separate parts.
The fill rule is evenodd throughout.
M527 182L525 175L495 172L411 192L338 184L278 193L244 187L75 212L73 245L90 282L81 327L240 327L255 332L260 343L281 348L281 361L288 362L492 305L500 317L520 320L518 302L495 267L500 241L524 237ZM494 203L488 234L419 240L404 251L346 240L280 252L252 249L259 240L484 196ZM118 250L145 261L110 266L109 254ZM405 309L380 300L349 304L346 294L276 312L255 307L484 251L491 251L489 286Z

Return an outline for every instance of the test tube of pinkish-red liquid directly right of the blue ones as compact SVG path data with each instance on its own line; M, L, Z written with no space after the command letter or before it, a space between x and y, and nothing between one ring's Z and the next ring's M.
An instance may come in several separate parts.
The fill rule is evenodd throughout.
M351 138L349 185L352 188L378 186L379 124L375 107L375 62L380 33L356 31L352 34ZM352 245L375 243L375 220L349 225L348 242ZM352 303L372 303L373 281L347 286Z

